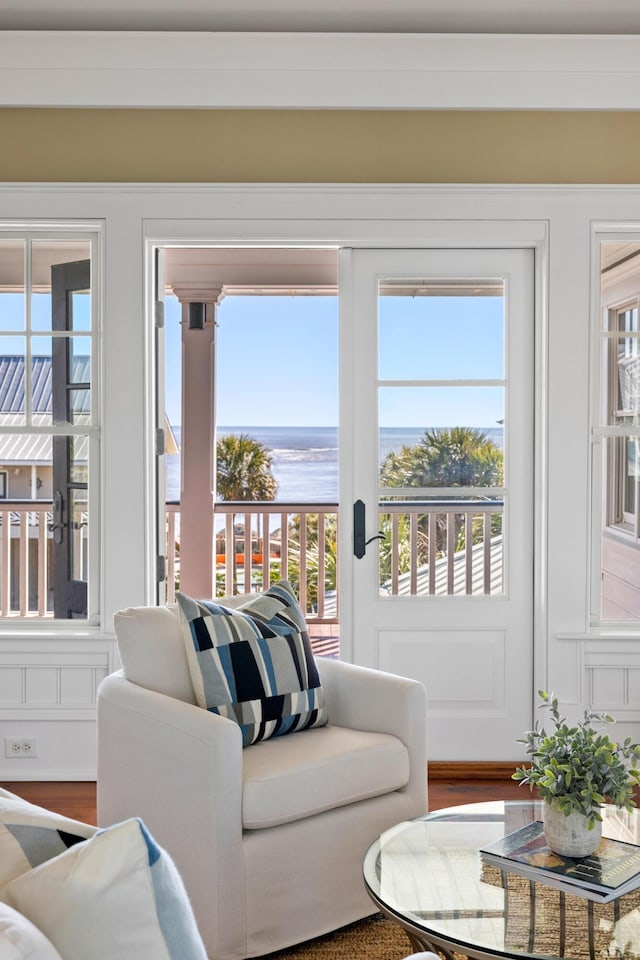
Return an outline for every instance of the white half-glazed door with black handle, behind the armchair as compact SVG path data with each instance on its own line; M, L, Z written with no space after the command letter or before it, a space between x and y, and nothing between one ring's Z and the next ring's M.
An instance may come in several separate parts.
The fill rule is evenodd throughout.
M350 657L424 682L432 759L511 760L532 713L533 251L342 258Z

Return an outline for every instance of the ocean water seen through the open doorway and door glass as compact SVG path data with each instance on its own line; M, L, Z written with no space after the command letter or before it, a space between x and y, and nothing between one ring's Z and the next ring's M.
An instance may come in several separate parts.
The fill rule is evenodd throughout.
M483 428L502 446L501 428ZM180 443L180 428L175 428ZM280 503L338 502L337 427L219 427L218 435L246 433L264 443L272 455L273 475L278 483ZM411 446L423 435L422 428L382 429L380 459L391 450ZM167 499L180 499L180 456L167 458Z

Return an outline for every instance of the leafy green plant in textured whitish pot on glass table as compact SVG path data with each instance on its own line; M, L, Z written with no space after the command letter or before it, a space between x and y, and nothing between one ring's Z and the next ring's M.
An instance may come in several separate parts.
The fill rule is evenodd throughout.
M544 831L556 853L584 857L598 846L603 803L625 810L635 807L634 787L640 786L640 745L628 737L616 743L601 729L615 723L606 713L585 710L569 726L558 710L558 699L538 691L539 707L551 713L554 729L547 733L536 720L517 742L526 745L531 765L517 767L514 780L537 790L544 804Z

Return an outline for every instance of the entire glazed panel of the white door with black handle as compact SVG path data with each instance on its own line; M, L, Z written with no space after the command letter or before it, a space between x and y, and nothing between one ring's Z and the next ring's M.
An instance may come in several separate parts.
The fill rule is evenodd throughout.
M502 595L503 282L385 280L378 306L380 595Z

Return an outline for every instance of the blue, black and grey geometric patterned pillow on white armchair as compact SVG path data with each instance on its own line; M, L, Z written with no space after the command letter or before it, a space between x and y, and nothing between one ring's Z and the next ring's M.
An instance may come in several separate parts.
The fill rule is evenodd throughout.
M286 580L241 607L176 594L196 702L243 746L320 727L327 711L304 615Z

